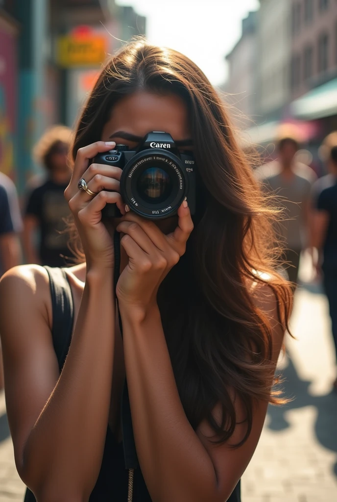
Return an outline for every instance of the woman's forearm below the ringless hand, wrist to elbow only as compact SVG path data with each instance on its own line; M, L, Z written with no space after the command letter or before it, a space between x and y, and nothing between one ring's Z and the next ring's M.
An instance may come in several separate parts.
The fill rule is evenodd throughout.
M121 306L135 443L153 502L217 500L210 456L184 412L156 306L138 317Z

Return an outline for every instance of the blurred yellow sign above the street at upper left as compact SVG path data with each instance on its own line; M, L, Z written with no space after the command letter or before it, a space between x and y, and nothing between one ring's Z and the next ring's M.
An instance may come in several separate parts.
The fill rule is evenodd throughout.
M106 48L106 39L99 35L60 37L57 44L57 62L65 68L99 65L106 58Z

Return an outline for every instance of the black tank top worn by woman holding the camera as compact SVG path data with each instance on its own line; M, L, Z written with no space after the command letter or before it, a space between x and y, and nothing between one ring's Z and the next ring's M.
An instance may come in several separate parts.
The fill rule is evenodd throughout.
M70 284L63 269L45 267L50 281L53 308L53 344L60 373L67 357L73 330L74 306ZM174 482L174 479L172 480ZM127 502L128 470L125 468L123 443L117 443L107 427L101 469L91 492L89 502ZM34 494L27 488L25 502L36 502ZM134 469L132 502L151 502L140 467ZM241 502L240 481L228 502Z

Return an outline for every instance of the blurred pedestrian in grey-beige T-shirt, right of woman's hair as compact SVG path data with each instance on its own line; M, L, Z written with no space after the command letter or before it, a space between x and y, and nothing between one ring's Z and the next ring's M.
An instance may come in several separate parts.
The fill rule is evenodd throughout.
M284 245L284 258L289 281L297 284L301 250L307 246L309 200L314 171L296 161L299 145L294 137L281 138L277 145L278 159L256 169L263 189L277 196L284 217L277 224L277 237Z

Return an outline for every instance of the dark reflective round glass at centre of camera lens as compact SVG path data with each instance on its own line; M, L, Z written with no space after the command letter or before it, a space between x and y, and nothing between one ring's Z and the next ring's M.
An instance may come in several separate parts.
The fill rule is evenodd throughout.
M172 181L163 169L150 167L140 175L137 189L139 195L149 202L162 202L171 193Z

